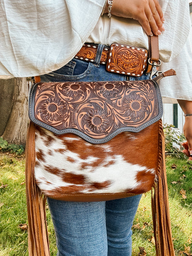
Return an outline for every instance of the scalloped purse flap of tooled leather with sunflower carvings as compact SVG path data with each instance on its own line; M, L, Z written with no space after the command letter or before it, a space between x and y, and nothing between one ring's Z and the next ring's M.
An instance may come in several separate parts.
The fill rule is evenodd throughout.
M37 83L29 97L32 122L90 143L105 143L122 131L139 132L162 114L160 91L152 80Z

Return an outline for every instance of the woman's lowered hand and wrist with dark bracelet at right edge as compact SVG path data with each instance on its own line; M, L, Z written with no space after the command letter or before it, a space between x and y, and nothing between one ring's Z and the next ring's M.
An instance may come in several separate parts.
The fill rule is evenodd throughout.
M180 107L185 114L192 114L192 101L177 99ZM185 116L183 133L186 137L186 142L183 143L183 153L192 160L192 116Z

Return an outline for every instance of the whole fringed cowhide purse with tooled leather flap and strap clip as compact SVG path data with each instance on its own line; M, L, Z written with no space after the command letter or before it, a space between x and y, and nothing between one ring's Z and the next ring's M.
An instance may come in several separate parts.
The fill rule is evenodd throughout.
M154 39L155 38L155 39ZM158 37L152 37L151 76ZM156 56L154 58L154 55ZM106 201L152 191L157 256L174 256L158 81L35 82L29 96L29 256L48 256L46 197Z

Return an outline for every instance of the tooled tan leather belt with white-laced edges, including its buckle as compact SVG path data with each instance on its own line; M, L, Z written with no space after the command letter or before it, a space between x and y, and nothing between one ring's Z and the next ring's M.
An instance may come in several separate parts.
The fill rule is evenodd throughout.
M98 44L85 43L75 58L82 61L94 62ZM104 46L100 64L106 65L109 72L128 76L142 76L144 72L150 72L148 65L148 52L146 49L122 44Z

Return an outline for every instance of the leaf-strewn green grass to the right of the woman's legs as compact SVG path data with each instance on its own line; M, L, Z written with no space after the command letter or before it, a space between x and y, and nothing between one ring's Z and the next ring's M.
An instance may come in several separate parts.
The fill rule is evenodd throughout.
M192 162L166 157L166 169L175 252L178 256L187 256L181 252L184 251L185 246L189 246L192 251ZM172 184L173 181L177 183ZM186 199L182 198L181 189L186 190ZM138 256L138 246L145 248L147 256L155 256L155 246L149 241L154 236L150 200L151 193L148 192L143 195L137 210L134 225L140 223L141 228L133 229L133 256ZM150 225L142 229L144 222L149 222Z

